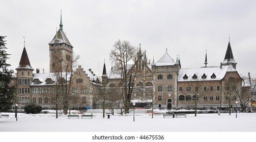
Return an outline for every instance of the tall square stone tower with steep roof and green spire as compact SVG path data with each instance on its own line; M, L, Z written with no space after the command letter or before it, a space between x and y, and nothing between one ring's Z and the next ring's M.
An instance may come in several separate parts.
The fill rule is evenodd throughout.
M71 72L73 46L63 31L62 13L60 29L49 43L50 73Z

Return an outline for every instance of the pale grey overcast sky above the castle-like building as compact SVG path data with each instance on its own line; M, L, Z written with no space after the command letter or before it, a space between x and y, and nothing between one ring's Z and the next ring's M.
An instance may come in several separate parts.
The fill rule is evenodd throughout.
M239 74L256 75L256 1L10 1L2 0L0 34L7 36L8 63L15 69L23 37L31 66L49 73L49 45L63 29L80 55L78 64L102 74L109 54L126 40L157 62L168 50L182 68L220 65L230 43Z

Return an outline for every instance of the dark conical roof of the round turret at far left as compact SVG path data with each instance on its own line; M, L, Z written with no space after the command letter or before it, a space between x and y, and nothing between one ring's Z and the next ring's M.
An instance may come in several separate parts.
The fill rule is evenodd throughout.
M27 56L25 47L23 48L22 55L21 55L21 58L20 58L20 61L19 61L19 65L16 68L16 70L17 69L31 69L31 70L34 70L30 65L30 59L29 59L29 56Z

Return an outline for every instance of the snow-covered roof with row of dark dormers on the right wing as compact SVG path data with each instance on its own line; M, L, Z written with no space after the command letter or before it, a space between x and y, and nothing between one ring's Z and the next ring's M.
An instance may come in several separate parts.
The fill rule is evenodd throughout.
M221 80L224 78L226 72L236 72L232 65L208 66L201 68L181 68L179 70L178 81L191 81L191 80ZM196 75L197 79L192 77ZM187 76L187 79L183 77ZM203 79L202 76L206 78Z

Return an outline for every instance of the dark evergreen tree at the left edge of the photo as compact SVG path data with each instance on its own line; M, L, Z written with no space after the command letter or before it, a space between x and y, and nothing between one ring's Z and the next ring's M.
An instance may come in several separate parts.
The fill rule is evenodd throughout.
M0 112L7 111L13 103L13 87L10 87L12 73L8 70L10 64L6 63L9 55L6 52L6 41L4 36L0 35Z

